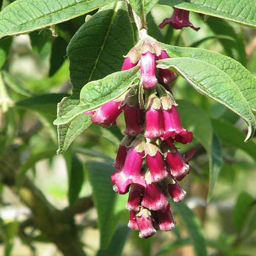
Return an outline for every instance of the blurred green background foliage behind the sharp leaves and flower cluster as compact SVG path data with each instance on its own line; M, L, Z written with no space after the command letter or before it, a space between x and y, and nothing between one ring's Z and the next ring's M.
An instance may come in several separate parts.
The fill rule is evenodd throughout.
M10 2L0 1L2 8ZM170 7L157 5L147 16L148 33L165 44L225 54L256 76L256 30L196 13L190 14L190 20L201 27L199 32L159 30L163 18L172 12ZM194 130L200 125L198 135L205 138L209 129L215 131L222 165L214 194L207 200L209 157L200 137L180 145L182 152L191 148L197 152L190 175L182 182L188 207L173 205L174 231L141 240L137 231L126 227L127 196L116 195L110 180L124 130L122 116L111 129L91 125L65 154L56 155L57 133L52 122L57 103L72 91L66 48L85 19L81 16L51 30L0 40L0 158L7 164L2 161L0 165L0 254L60 255L45 233L30 223L31 209L20 201L20 188L29 179L59 210L71 208L79 199L87 200L85 211L75 212L75 222L88 255L203 256L204 247L208 255L256 255L255 137L244 143L244 121L200 95L183 78L177 79L173 93L185 102L180 110L184 126ZM7 173L8 166L15 173Z

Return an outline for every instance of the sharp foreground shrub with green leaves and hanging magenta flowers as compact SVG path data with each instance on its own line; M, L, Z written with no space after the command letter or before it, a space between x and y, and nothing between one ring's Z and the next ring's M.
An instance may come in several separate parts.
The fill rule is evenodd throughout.
M108 128L116 125L116 119L124 113L125 136L113 163L116 170L111 180L116 193L129 193L128 226L139 230L140 238L152 237L158 229L174 229L176 222L169 202L178 203L186 195L180 182L189 174L189 160L195 150L184 155L179 151L179 143L191 143L193 133L182 126L186 117L182 120L177 108L182 106L182 101L178 104L172 93L177 76L242 117L248 124L245 141L249 141L255 131L254 77L227 56L157 41L148 34L146 16L158 3L174 7L173 16L166 17L159 24L160 29L190 27L198 31L200 28L189 21L189 11L205 19L208 15L217 16L256 27L253 0L239 3L17 0L0 14L0 37L5 37L48 26L54 30L55 24L97 10L92 16L88 15L86 24L76 32L67 48L73 95L58 104L58 117L54 121L58 125L58 153L67 151L72 141L92 123ZM131 23L137 29L136 42ZM109 25L116 29L112 30ZM85 43L84 38L90 40ZM81 48L87 52L80 55ZM83 58L90 55L92 61L82 63ZM210 155L211 196L218 176L214 171L218 173L216 169L220 166L212 139L216 135L209 133L210 141L206 141L204 147ZM200 137L197 140L200 141ZM181 206L184 214L187 209L182 207L185 206Z

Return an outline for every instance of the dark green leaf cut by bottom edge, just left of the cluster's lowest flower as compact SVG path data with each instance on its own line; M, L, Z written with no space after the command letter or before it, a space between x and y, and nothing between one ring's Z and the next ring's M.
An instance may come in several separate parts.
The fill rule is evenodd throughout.
M115 234L106 250L99 250L97 256L120 256L123 246L131 229L127 225L121 225L115 231Z

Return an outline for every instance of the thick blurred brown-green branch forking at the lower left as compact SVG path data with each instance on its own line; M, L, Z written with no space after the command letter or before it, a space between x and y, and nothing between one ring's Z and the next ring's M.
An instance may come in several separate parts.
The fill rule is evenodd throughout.
M63 255L86 255L82 250L73 216L91 208L90 199L78 200L75 205L60 211L27 177L20 189L15 186L16 170L19 169L19 165L19 153L15 146L10 146L0 159L0 181L31 209L33 226L52 241ZM82 206L82 203L86 205Z

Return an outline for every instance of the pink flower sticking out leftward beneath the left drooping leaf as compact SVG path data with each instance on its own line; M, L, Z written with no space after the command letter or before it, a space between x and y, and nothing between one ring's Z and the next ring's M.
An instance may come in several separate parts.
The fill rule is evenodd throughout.
M92 122L101 124L103 127L109 127L116 124L117 117L122 112L122 107L120 104L122 101L111 100L108 103L105 103L99 109L90 112L92 113ZM89 112L86 112L88 114Z

